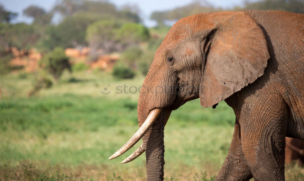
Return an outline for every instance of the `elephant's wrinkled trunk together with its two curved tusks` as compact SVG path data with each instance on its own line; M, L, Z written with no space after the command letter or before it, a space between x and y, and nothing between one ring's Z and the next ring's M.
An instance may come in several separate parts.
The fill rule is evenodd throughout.
M150 71L150 70L156 70ZM146 152L147 159L147 179L163 180L164 179L164 125L168 120L171 110L169 107L175 100L176 95L166 88L173 87L171 81L159 78L155 75L165 74L166 71L157 68L152 64L149 73L140 90L138 99L138 125L139 130L135 135L109 159L114 159L130 149L140 138L143 139L143 146L136 150L130 157L122 163L135 159L138 155ZM169 84L170 83L170 84ZM169 87L169 88L170 88ZM157 111L157 115L154 114ZM150 116L151 113L154 116ZM149 118L150 117L150 118ZM153 118L152 118L153 117ZM149 121L150 120L150 121ZM149 124L148 124L148 122Z

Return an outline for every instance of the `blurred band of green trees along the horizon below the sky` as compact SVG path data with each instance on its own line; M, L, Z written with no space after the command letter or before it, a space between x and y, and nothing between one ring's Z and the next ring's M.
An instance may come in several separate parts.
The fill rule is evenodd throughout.
M143 25L140 10L136 5L117 8L109 1L60 0L49 11L36 5L29 5L23 10L22 15L32 18L31 24L10 23L18 14L0 5L0 56L3 58L0 67L7 66L5 57L12 54L12 48L24 52L35 48L44 55L55 47L77 50L88 47L86 63L97 61L101 55L130 51L126 50L130 46L141 49L144 52L142 56L152 55L170 26L178 19L201 12L248 9L276 9L303 13L304 2L302 0L245 1L242 6L223 9L207 1L198 0L182 7L153 12L150 19L157 22L154 28ZM54 23L52 20L56 19L58 14L60 21ZM125 65L134 71L146 73L151 60L152 58L137 56L131 63L126 57ZM2 72L6 71L2 70Z

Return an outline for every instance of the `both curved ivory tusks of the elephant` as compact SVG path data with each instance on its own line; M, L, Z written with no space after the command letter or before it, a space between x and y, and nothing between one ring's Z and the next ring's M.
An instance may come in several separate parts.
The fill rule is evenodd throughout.
M164 124L166 125L171 110L167 108L155 108L152 111L150 111L149 115L147 116L147 119L144 121L144 123L141 125L141 127L136 131L136 133L130 138L128 142L126 142L119 150L117 150L112 156L109 157L109 160L115 159L128 151L132 146L134 146L142 137L143 135L150 129L150 127L154 124L154 122L157 120L159 115L162 111L166 111L164 119ZM127 163L134 159L136 159L139 155L141 155L143 152L145 152L145 148L143 145L141 145L133 154L131 154L128 158L123 160L121 163Z

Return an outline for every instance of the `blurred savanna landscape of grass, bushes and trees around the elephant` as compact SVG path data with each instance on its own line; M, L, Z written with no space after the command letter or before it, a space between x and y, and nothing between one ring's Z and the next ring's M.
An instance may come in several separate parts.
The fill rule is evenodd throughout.
M248 9L303 13L304 1L245 1L229 9L192 1L153 12L155 27L143 24L136 5L103 0L58 0L48 11L29 5L19 14L33 19L29 24L12 23L18 14L0 5L0 179L145 179L144 156L129 165L107 160L137 129L132 86L143 83L178 19ZM124 93L115 94L122 85ZM225 102L203 109L194 100L174 111L165 129L166 179L214 179L234 121ZM286 179L303 173L287 167Z

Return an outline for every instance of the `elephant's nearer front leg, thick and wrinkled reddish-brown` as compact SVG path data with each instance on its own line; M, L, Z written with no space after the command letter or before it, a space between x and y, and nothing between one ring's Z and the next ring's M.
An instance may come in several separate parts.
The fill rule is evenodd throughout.
M285 180L285 111L259 107L250 115L240 122L241 145L254 180Z

